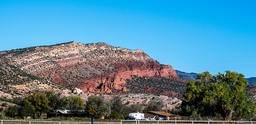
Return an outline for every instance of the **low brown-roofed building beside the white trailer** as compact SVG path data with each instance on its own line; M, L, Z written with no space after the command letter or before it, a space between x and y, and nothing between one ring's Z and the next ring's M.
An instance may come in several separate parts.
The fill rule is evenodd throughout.
M158 116L156 120L166 120L166 112L157 112L157 111L148 111L144 112L144 116L149 116L150 118L154 118L154 116ZM176 115L167 113L168 120L170 120L171 117L175 117Z

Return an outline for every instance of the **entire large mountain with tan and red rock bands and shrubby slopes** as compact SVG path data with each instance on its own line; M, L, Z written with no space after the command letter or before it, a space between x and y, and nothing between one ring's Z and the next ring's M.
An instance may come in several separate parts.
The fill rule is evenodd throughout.
M8 80L8 83L2 81L2 85L6 86L2 90L16 95L20 95L19 93L22 93L29 83L55 84L62 90L78 87L84 93L126 94L133 92L180 97L186 87L186 80L180 79L172 66L160 64L141 49L129 50L106 43L82 44L72 41L51 46L2 51L0 56L2 61L12 67L8 67L10 69L7 68L7 70L4 69L8 66L7 64L1 65L2 73L8 78L13 78L13 80ZM12 70L20 72L12 74ZM154 85L138 83L137 79L141 77L147 78L147 83ZM139 84L141 91L135 90L132 82ZM23 89L18 93L15 90L5 90L11 86L17 87L17 85L23 85ZM157 88L157 90L148 92L150 88Z

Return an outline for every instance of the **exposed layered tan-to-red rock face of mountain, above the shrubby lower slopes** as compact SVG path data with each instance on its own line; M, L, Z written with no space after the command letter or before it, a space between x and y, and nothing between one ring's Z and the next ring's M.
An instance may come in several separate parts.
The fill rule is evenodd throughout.
M29 74L64 87L78 87L84 93L129 91L125 85L131 75L178 79L172 66L156 62L141 49L129 50L106 43L70 42L0 54Z

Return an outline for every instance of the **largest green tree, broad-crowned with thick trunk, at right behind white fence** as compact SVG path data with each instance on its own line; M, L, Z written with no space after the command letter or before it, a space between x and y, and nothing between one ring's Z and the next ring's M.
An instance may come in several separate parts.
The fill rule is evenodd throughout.
M230 121L233 112L239 117L255 114L256 107L244 89L248 83L243 74L226 71L212 76L208 71L198 74L196 81L187 83L183 94L182 113L185 115L222 116Z

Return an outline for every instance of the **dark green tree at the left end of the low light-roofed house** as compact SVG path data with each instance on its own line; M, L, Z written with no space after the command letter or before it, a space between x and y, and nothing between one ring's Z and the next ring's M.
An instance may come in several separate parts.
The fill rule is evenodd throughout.
M66 97L61 97L60 93L55 93L55 92L45 92L46 93L46 97L48 98L50 104L49 106L52 108L52 110L55 112L55 116L57 116L56 112L59 109L64 108L67 105L67 101L66 101Z

